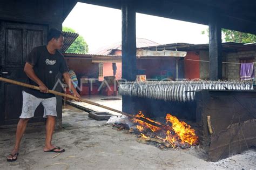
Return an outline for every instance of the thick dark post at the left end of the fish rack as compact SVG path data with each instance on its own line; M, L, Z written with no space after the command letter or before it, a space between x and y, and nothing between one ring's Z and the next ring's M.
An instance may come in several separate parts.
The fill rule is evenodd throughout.
M136 79L136 11L130 2L122 5L122 78Z

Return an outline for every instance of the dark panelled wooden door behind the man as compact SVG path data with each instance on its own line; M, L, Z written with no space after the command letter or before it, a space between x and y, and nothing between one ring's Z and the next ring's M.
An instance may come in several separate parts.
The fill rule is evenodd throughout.
M46 44L48 26L0 21L0 76L22 81L26 56ZM0 125L17 124L22 112L22 87L0 82ZM39 106L30 122L44 121Z

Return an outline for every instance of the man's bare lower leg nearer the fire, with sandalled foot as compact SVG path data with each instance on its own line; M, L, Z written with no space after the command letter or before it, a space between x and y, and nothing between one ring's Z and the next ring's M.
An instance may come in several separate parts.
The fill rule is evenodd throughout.
M52 140L52 134L55 128L55 116L48 115L48 118L46 120L45 130L46 130L46 137L45 137L45 146L44 151L49 151L53 148L56 148L51 144ZM55 149L54 151L61 151L62 149Z

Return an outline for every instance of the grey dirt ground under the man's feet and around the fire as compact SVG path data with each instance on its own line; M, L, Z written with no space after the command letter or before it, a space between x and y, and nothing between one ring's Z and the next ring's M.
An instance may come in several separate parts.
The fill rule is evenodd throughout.
M208 162L198 147L163 151L87 115L71 106L64 108L65 128L53 135L53 144L66 149L59 155L43 152L44 126L28 127L18 160L7 162L15 129L0 130L0 169L256 169L255 149Z

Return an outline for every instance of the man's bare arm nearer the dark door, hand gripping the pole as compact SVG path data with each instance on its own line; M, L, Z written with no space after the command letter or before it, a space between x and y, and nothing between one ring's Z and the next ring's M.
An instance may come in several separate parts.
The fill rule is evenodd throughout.
M44 83L36 76L32 64L26 63L24 67L24 72L26 73L26 76L28 76L31 80L35 81L35 83L38 84L39 89L42 93L48 93L48 87L46 87Z

